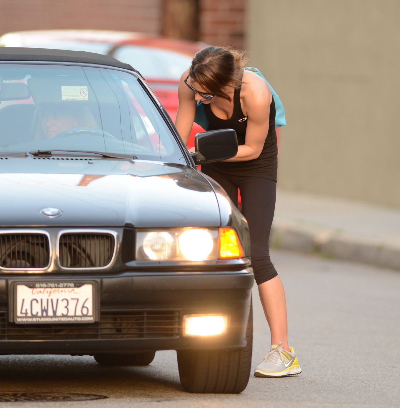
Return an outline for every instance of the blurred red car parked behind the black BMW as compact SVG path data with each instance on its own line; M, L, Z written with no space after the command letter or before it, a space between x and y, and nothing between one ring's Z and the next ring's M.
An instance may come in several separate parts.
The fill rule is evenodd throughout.
M36 47L112 55L137 69L173 120L178 109L178 82L194 54L207 44L129 31L34 30L3 34L0 47ZM203 129L194 125L188 147Z

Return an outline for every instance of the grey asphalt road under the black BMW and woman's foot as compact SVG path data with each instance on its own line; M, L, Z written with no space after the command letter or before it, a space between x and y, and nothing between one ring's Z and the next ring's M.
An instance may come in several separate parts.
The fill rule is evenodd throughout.
M274 251L286 287L290 344L303 373L250 377L239 395L180 388L176 353L148 367L101 368L92 357L0 357L1 391L81 392L108 399L0 403L2 407L400 407L400 273ZM253 366L269 348L254 292Z

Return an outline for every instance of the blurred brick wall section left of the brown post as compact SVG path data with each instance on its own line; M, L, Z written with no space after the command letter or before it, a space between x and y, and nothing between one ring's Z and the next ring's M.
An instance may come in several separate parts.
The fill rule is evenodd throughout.
M40 29L160 31L162 0L0 0L0 34Z

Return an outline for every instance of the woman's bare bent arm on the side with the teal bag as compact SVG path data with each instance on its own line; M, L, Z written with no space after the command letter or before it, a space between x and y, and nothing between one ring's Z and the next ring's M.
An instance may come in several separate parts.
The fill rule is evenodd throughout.
M251 74L253 75L251 79L248 78L246 94L243 98L244 106L242 106L243 111L247 112L246 141L245 144L238 146L237 155L224 160L225 162L245 162L257 159L268 134L271 91L262 78L254 73Z

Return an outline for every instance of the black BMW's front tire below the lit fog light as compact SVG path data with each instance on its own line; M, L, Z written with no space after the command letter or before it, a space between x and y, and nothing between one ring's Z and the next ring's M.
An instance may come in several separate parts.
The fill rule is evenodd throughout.
M238 350L177 350L180 383L187 392L237 394L246 388L253 349L253 310L247 346Z

